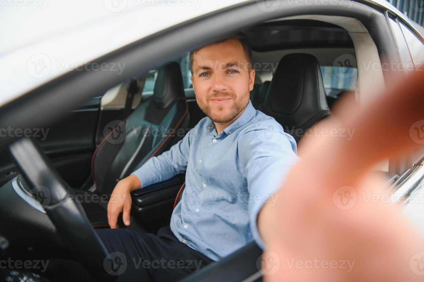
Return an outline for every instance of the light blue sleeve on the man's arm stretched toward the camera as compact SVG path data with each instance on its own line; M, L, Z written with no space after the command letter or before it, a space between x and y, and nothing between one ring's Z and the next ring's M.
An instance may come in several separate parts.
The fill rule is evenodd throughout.
M251 232L259 247L264 249L265 243L257 229L257 217L265 202L275 204L278 201L273 194L298 160L296 141L276 122L253 124L240 136L238 151L245 165L251 199L248 207Z

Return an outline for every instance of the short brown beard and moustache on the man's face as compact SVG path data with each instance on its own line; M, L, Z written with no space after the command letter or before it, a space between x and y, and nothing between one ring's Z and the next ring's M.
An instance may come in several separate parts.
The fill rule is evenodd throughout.
M232 105L216 105L212 109L212 107L209 105L209 101L212 98L218 97L231 97ZM206 98L206 102L201 101L196 96L196 101L202 112L204 112L204 114L206 114L206 116L209 117L213 122L228 123L234 120L234 118L237 117L237 115L246 108L249 102L249 95L242 95L239 97L239 99L237 99L237 96L234 95L234 93L219 92L208 96Z

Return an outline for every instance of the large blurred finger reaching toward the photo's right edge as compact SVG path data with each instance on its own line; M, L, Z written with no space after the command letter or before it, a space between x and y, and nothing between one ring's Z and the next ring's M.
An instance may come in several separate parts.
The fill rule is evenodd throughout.
M307 163L311 168L320 170L317 174L327 183L335 187L354 185L375 163L418 145L410 137L410 127L423 119L423 92L422 72L405 76L402 83L375 95L376 98L365 103L350 120L327 120L324 126L349 130L352 138L326 138L319 150L308 150L304 159L309 159ZM348 110L351 103L339 106L342 112ZM334 188L333 185L327 187Z

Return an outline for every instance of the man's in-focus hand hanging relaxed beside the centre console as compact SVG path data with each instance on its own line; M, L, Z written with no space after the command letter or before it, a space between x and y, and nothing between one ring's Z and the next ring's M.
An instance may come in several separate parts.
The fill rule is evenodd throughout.
M130 175L116 184L109 203L107 204L107 218L111 229L118 228L118 216L123 212L122 219L126 226L130 225L131 191L141 188L140 180Z

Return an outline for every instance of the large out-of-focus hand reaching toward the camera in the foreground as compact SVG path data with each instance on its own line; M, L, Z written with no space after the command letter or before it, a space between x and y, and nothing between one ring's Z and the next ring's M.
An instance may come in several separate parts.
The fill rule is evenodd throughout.
M379 200L391 191L372 172L418 146L410 127L423 117L423 74L402 78L350 117L351 104L342 103L337 119L317 125L327 133L356 129L351 140L322 134L299 144L301 160L277 191L279 201L258 216L268 248L264 281L422 281L411 263L421 263L415 256L423 239L397 204Z

